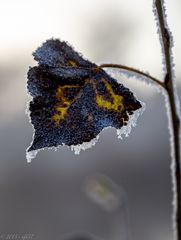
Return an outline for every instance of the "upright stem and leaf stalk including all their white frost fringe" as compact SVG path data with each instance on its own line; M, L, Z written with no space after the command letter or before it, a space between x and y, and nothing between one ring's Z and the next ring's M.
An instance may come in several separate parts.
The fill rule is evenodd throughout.
M158 27L158 35L162 50L163 81L140 70L117 64L102 64L101 67L117 68L128 77L136 77L164 95L168 129L171 146L171 171L173 182L173 228L174 239L181 240L181 164L180 164L180 103L176 89L174 61L173 61L173 36L168 27L166 7L163 0L153 1L153 12Z

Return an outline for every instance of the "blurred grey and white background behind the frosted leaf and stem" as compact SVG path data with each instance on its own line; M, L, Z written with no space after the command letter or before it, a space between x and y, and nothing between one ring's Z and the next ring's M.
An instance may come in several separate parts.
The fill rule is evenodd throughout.
M180 96L181 2L167 0L166 6ZM120 63L162 78L155 25L152 0L0 0L0 234L173 239L168 121L164 98L154 88L119 76L147 106L129 138L118 140L115 129L106 129L78 156L60 147L41 151L31 164L25 157L32 139L25 115L26 74L36 64L32 52L46 39L60 38L98 64ZM113 184L116 209L107 211L86 194L87 179L96 174ZM114 192L114 184L124 194Z

